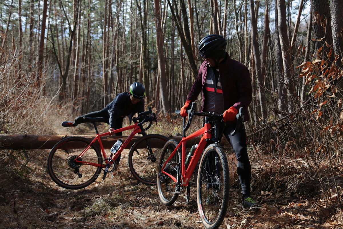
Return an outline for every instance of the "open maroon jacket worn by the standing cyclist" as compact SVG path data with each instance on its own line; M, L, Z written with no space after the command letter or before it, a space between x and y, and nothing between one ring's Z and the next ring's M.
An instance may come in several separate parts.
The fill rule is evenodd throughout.
M227 54L228 55L228 54ZM187 100L194 102L200 92L202 92L202 105L200 112L203 111L204 101L204 84L207 74L208 65L204 61L199 69L198 77L193 83ZM240 107L244 108L244 120L249 119L248 106L252 101L252 87L249 70L240 62L227 56L226 61L218 64L220 80L223 90L224 111L231 106L239 111ZM227 124L235 121L227 122Z

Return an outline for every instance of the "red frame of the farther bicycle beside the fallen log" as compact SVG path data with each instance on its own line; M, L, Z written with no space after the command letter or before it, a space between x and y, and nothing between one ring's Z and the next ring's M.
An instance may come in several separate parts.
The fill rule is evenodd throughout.
M123 151L123 149L125 149L125 147L127 146L127 144L129 143L129 141L132 139L132 137L137 134L137 133L140 133L142 132L141 128L137 125L138 123L135 123L131 126L127 126L127 127L123 127L123 128L120 128L120 129L116 129L114 130L115 133L117 132L122 132L122 131L125 131L125 130L129 130L129 129L133 129L131 134L127 137L127 139L123 142L123 144L120 145L119 149L117 150L117 152L110 158L112 159L113 161L116 160L118 157L119 157L119 154ZM99 142L99 146L100 146L100 149L103 153L103 157L105 158L105 162L108 163L108 160L106 159L106 153L105 153L105 149L104 149L104 146L103 146L103 143L101 141L101 137L102 136L106 136L106 135L109 135L109 132L106 132L104 134L99 134L97 133L96 134L96 137L92 140L92 142L86 147L86 149L84 149L80 154L79 156L75 159L75 162L76 163L82 163L82 164L88 164L88 165L93 165L95 167L106 167L105 164L98 164L98 163L93 163L93 162L87 162L87 161L79 161L77 160L78 158L82 158L83 154L91 147L91 145L98 141Z

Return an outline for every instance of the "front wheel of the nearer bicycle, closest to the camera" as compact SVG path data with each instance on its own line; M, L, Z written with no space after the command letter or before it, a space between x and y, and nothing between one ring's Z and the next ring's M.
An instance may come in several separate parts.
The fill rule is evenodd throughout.
M229 169L225 153L216 144L209 145L200 160L197 201L201 221L209 229L223 222L229 198Z

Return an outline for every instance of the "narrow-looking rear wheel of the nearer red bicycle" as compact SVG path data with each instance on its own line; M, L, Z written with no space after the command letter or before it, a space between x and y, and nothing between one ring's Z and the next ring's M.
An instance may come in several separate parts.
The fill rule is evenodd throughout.
M178 197L177 185L168 175L162 173L162 167L167 161L171 153L174 151L179 142L175 139L170 139L164 145L161 158L158 163L158 176L157 176L157 191L161 202L164 205L170 206L174 204L176 198ZM181 154L180 149L174 154L174 156L166 164L164 171L170 175L177 177L177 173L180 174L180 167L178 166L180 162Z

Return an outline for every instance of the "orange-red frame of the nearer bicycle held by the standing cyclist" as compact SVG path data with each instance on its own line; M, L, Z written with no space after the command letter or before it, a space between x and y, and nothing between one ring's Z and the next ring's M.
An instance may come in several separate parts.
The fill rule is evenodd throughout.
M206 146L206 139L211 139L212 138L212 132L211 132L211 123L205 123L204 127L201 129L197 130L193 134L187 136L187 137L182 137L182 140L180 143L176 146L175 150L170 154L168 159L164 162L164 165L162 167L162 173L168 175L174 182L177 182L177 179L173 176L170 175L169 173L164 171L164 167L166 166L167 162L174 156L174 154L177 152L178 148L182 146L182 156L181 156L181 176L182 176L182 186L188 186L189 179L193 173L194 168L197 165L197 162L199 161L201 157L201 153L204 150ZM200 142L198 144L197 149L194 151L193 156L191 156L191 160L189 162L188 168L186 169L185 161L186 161L186 142L188 140L191 140L195 137L198 137L202 135Z

